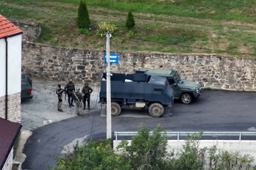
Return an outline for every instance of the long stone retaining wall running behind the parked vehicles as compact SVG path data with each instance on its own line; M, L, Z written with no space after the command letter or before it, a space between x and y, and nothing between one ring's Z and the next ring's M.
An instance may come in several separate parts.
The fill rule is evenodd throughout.
M256 90L256 58L218 54L111 51L119 64L113 73L134 73L140 67L178 70L182 78L213 89ZM105 70L102 51L57 48L24 42L22 72L47 81L96 82Z

